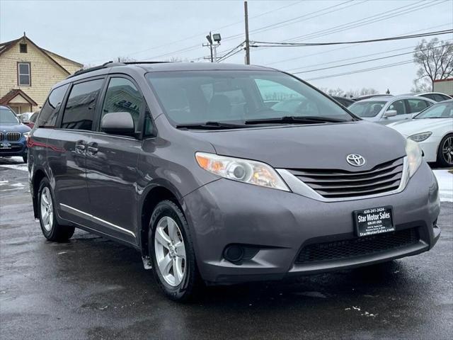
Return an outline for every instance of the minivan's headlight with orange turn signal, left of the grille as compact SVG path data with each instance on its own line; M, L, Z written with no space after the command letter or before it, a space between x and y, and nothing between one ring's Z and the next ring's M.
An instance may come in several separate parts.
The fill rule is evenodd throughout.
M268 164L205 152L197 152L195 158L202 169L225 179L289 191L277 171Z

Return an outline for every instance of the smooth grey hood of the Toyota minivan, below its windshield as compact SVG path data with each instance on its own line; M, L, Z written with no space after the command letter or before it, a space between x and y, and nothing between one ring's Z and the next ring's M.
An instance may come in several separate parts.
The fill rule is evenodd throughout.
M197 133L217 154L284 169L365 171L406 155L406 141L398 132L363 120ZM346 162L348 154L360 154L367 162L351 166Z

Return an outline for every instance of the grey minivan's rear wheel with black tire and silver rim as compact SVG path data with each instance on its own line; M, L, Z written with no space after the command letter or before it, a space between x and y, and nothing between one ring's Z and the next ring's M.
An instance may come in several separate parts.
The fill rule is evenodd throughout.
M55 212L55 200L49 181L44 178L38 190L38 214L42 234L52 242L67 242L74 234L74 227L59 225Z

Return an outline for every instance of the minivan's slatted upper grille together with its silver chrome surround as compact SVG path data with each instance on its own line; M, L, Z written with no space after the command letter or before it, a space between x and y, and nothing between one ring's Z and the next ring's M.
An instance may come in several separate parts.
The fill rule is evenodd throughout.
M277 169L277 172L293 193L322 202L360 200L399 193L406 188L409 174L407 157L380 164L370 171L355 173L294 169Z

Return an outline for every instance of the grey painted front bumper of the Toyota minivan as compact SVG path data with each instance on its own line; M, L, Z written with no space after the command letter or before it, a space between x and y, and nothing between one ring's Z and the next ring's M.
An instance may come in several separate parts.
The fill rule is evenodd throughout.
M352 211L391 205L396 231L414 228L408 246L348 259L297 263L307 244L357 239ZM440 201L435 176L423 162L401 193L339 202L320 202L294 193L219 179L184 198L197 266L209 283L281 279L389 261L428 251L440 236L435 221ZM259 249L252 259L224 259L230 244Z

